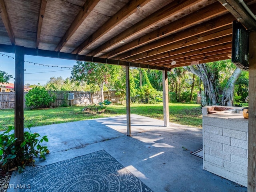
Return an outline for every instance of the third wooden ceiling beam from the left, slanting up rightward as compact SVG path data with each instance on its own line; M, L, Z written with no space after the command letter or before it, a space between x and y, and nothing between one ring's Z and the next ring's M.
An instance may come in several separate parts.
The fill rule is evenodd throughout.
M71 38L71 36L76 32L78 27L84 22L84 20L87 18L87 16L92 12L94 7L98 4L100 0L86 0L84 3L82 9L77 14L76 18L64 34L64 36L61 38L60 42L55 48L55 51L60 51L63 46L68 42L68 40Z

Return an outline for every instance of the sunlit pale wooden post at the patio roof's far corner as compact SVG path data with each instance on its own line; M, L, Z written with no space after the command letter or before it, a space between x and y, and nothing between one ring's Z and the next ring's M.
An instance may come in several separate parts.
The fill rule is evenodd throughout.
M168 98L168 76L167 70L163 70L163 101L164 101L164 126L168 127L169 122L169 98Z

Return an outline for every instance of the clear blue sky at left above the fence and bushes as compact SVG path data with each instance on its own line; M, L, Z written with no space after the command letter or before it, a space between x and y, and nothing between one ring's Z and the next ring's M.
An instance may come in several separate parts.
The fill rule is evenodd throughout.
M0 70L13 76L9 83L13 83L15 77L14 57L15 54L0 52ZM75 60L25 55L24 84L37 85L39 83L40 85L46 85L50 77L69 78L75 64Z

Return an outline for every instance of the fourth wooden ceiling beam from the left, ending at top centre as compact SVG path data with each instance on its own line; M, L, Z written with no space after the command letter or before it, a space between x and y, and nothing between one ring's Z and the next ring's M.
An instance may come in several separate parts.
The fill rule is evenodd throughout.
M94 1L94 0L92 0ZM98 0L99 1L99 0ZM89 36L82 44L80 44L72 53L78 54L90 44L101 38L104 34L109 32L115 26L120 24L129 15L133 14L138 10L138 7L142 7L147 4L150 0L131 0L122 9L120 9L114 16L112 16L106 23L103 24L96 32ZM91 55L92 56L92 55Z

